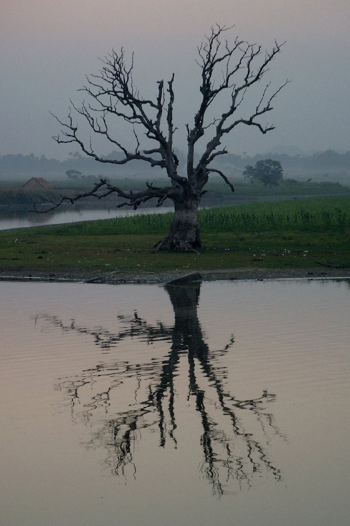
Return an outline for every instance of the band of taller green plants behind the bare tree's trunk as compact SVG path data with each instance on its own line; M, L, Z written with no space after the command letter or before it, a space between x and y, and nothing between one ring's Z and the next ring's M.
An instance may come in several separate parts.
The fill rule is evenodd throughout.
M55 234L113 235L165 234L172 213L140 214L55 225ZM201 231L248 232L253 230L329 231L350 229L350 197L285 199L214 207L198 211Z

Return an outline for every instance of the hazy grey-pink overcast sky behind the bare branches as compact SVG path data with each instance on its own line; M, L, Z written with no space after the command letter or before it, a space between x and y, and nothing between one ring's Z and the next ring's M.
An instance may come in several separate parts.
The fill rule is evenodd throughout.
M84 75L101 66L98 57L122 46L134 52L137 84L147 96L156 93L156 80L175 73L183 148L185 124L197 109L197 45L215 22L235 25L232 39L263 48L287 41L269 75L276 87L292 81L268 116L277 129L261 135L237 128L226 143L231 153L281 145L350 150L349 21L349 0L0 0L0 155L62 159L76 151L51 138L59 127L49 112L63 119L69 99L82 99Z

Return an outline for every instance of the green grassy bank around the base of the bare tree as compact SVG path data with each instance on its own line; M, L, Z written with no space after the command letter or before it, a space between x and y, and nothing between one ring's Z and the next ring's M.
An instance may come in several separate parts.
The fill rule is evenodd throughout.
M205 248L199 254L152 250L171 218L153 214L1 231L0 270L350 267L350 197L200 210Z

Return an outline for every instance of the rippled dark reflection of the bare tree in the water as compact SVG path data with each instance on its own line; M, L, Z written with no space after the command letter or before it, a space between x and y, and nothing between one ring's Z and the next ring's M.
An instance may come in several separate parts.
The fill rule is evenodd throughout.
M103 350L126 338L147 344L169 342L168 354L161 359L102 363L62 379L59 388L65 392L64 404L69 404L72 420L91 427L88 445L102 444L107 449L105 462L114 474L135 477L134 452L144 432L157 429L160 447L165 448L168 441L177 447L176 404L183 395L181 385L187 385L186 403L195 411L192 417L197 414L200 422L200 471L213 493L220 497L237 483L240 488L250 487L253 478L263 474L280 480L280 471L268 454L272 437L283 438L267 410L275 395L265 390L258 398L232 396L225 388L227 369L220 358L233 345L233 336L224 349L210 351L197 316L200 284L167 285L166 290L175 314L171 327L161 322L151 325L137 312L133 317L119 317L118 333L79 327L75 321L65 325L57 317L40 316L63 331L91 335ZM180 378L184 363L188 371L185 383ZM132 400L123 399L128 389L132 389ZM189 426L189 432L194 429L198 427Z

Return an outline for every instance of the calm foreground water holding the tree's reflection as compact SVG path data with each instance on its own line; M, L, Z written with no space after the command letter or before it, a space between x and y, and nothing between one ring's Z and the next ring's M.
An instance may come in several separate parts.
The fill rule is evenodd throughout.
M0 282L0 308L4 526L348 524L349 281Z

